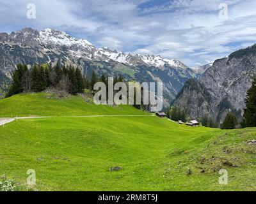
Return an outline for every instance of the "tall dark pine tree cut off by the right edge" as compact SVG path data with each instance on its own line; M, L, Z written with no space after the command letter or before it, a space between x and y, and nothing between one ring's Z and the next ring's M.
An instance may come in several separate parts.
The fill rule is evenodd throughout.
M256 127L256 78L252 82L252 87L247 91L245 99L243 128Z

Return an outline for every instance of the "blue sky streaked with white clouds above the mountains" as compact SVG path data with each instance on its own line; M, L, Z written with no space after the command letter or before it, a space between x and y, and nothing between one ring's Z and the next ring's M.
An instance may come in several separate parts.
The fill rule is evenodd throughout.
M28 3L36 18L27 18ZM24 27L60 29L96 47L197 66L256 43L256 1L0 0L0 33Z

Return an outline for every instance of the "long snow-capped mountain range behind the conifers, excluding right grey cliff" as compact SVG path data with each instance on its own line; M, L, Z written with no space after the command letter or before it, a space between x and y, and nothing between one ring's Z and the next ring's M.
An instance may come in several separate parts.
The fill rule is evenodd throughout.
M164 105L168 107L189 78L198 78L202 69L191 69L179 60L155 55L132 55L96 48L87 40L79 40L54 29L36 31L24 28L11 34L0 34L0 91L6 91L15 65L19 62L42 64L60 61L82 69L84 75L95 70L99 75L124 75L126 80L163 82Z

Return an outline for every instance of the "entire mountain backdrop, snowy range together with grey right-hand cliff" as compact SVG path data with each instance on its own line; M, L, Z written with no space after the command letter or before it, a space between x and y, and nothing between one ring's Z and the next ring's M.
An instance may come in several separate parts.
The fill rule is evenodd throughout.
M88 76L95 70L98 75L122 74L126 80L163 82L165 108L172 103L196 119L208 115L221 122L230 111L242 117L246 91L256 76L256 45L189 68L177 59L159 55L96 48L87 40L54 29L38 32L24 28L0 34L0 93L8 90L17 63L32 66L57 61L77 66Z

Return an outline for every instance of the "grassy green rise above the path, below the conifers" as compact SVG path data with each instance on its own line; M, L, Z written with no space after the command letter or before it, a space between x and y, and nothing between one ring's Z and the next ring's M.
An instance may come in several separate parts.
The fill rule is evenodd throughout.
M45 92L36 94L17 94L0 100L0 117L22 116L67 116L67 115L118 115L147 113L132 106L94 105L92 98L70 96L58 99L54 94Z

